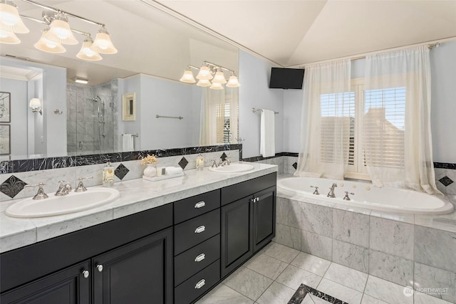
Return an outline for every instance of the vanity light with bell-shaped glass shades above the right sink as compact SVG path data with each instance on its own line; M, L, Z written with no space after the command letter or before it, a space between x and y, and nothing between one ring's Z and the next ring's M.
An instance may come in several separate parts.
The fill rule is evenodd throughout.
M192 68L198 70L197 79L199 80L197 85L199 87L209 87L214 90L223 90L224 83L227 83L227 88L238 88L241 84L237 79L234 70L229 70L229 68L224 68L222 65L216 65L214 63L209 63L204 61L201 68L197 68L193 65L188 65L187 70L185 70L184 75L180 78L182 83L195 83L195 78L193 78ZM222 70L227 70L231 73L229 76L229 81L225 78L225 75ZM212 80L209 81L209 80Z

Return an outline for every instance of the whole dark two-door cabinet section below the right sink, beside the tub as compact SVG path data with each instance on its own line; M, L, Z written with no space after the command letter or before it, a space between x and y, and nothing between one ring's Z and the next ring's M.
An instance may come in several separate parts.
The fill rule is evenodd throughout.
M222 189L222 278L247 261L275 236L276 174ZM261 189L262 187L262 189ZM248 196L228 203L229 197Z

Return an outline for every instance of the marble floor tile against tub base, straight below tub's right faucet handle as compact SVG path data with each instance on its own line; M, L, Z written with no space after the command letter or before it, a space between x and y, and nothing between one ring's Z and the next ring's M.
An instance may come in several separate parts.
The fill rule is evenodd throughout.
M368 274L337 263L331 263L331 266L329 266L328 271L326 271L323 278L327 278L328 280L342 284L348 288L361 291L362 293L366 287L366 282L368 281Z

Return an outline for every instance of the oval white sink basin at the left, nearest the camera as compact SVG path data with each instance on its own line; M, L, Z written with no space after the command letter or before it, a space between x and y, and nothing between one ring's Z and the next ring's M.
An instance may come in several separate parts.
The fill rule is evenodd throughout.
M108 204L117 199L120 193L111 188L88 188L86 192L71 192L65 196L48 194L47 199L23 199L6 209L12 217L42 217L69 214Z

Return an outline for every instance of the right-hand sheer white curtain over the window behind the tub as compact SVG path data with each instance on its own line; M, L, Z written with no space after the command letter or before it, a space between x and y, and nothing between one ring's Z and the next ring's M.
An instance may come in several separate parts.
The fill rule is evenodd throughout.
M430 132L427 46L366 56L363 144L375 186L440 194Z

